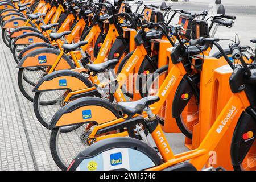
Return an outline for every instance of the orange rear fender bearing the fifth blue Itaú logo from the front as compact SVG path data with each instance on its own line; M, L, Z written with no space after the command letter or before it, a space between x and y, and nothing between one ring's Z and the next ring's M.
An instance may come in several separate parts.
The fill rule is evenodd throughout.
M13 44L34 44L39 42L50 43L49 40L42 34L36 32L28 32L18 36L14 40Z

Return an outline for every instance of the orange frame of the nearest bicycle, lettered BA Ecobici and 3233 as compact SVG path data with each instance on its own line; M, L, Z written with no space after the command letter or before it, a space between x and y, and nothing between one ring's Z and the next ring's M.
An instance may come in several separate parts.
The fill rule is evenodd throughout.
M228 103L214 122L213 126L210 128L208 134L205 136L203 142L200 146L192 151L183 152L177 155L168 155L168 153L161 153L165 163L160 166L150 168L148 170L162 170L164 168L170 167L174 164L184 162L185 160L190 160L190 163L196 167L196 169L202 169L207 163L209 158L209 152L214 150L218 142L224 137L226 131L228 131L229 126L238 120L243 110L250 106L250 102L244 91L240 93L233 93L232 97L229 99ZM162 132L162 129L158 127L152 135L158 147L162 148L162 143L160 142L158 133ZM164 142L167 143L166 140ZM168 147L171 152L171 148ZM160 150L161 151L161 150Z

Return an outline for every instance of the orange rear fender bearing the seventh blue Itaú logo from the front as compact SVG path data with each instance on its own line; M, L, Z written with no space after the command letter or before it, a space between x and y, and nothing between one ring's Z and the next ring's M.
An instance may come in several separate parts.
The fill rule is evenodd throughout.
M27 22L27 18L23 18L23 17L15 17L15 18L11 18L7 21L5 21L5 23L3 23L2 28L18 28L18 27L24 27L24 24ZM36 28L36 26L30 21L28 22L27 26L31 26Z

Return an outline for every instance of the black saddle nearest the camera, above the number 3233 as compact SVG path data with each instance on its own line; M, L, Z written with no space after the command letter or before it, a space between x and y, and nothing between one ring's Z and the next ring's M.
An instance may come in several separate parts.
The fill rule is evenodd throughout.
M138 101L132 102L118 102L115 105L115 109L120 111L122 114L134 115L134 114L142 114L145 107L158 102L160 98L158 96L148 96L144 97Z

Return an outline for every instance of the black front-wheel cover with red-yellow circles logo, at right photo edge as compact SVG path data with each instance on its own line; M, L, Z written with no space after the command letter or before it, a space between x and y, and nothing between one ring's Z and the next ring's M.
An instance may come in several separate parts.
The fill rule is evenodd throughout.
M231 160L233 166L240 166L255 140L256 121L246 111L241 114L231 143Z

